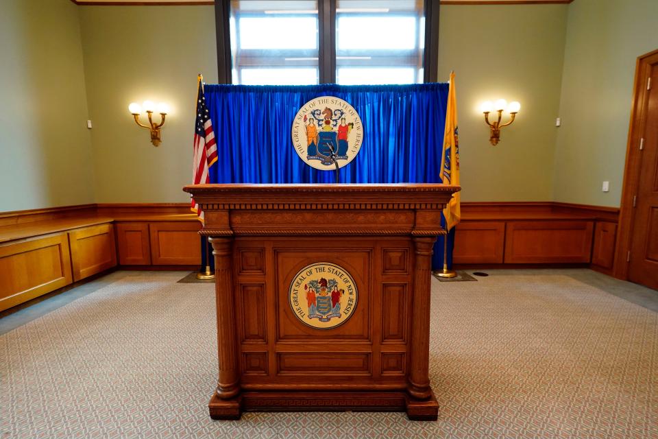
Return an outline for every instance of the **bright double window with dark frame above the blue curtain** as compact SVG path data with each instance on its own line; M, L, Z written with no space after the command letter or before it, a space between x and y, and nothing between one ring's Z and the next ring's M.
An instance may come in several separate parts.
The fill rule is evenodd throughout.
M436 77L437 54L424 54L425 14L436 37L439 0L230 0L230 8L228 2L215 0L220 80L413 84L424 82L430 55L430 78ZM223 65L229 53L230 67Z

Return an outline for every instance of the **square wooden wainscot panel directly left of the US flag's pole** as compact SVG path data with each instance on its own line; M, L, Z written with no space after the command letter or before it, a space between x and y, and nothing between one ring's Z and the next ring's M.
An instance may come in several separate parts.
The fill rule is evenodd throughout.
M198 265L201 261L199 222L158 222L149 225L151 263Z

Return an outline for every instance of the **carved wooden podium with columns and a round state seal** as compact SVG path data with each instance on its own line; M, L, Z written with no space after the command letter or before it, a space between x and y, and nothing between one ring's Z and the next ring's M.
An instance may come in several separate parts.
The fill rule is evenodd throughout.
M215 255L210 417L406 411L435 420L432 246L459 187L192 185Z

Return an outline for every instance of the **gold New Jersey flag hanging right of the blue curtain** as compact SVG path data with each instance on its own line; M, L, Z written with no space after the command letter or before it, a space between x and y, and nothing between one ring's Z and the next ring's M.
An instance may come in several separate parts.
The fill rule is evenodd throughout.
M448 108L446 109L446 129L443 130L443 154L441 154L441 182L444 185L459 186L459 138L457 129L457 99L454 91L454 72L450 73ZM459 192L452 194L452 200L443 209L446 217L446 230L459 223L461 209Z

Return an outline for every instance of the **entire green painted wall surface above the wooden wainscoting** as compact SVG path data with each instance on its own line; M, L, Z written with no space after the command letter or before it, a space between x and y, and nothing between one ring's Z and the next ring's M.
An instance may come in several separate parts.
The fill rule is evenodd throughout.
M196 74L217 80L212 6L3 0L0 12L0 184L15 188L0 211L186 201ZM653 0L443 5L463 200L617 206L635 58L658 48L657 21ZM493 147L478 106L498 97L522 110ZM172 107L157 148L127 112L147 98Z

